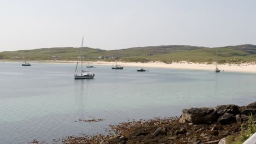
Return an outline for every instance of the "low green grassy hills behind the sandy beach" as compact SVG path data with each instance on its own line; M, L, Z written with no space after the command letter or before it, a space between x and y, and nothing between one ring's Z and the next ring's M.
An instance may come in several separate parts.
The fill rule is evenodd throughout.
M126 62L148 62L162 61L171 63L173 61L189 62L214 62L218 49L218 60L220 63L239 63L242 61L256 61L255 45L237 45L224 47L198 47L188 45L163 45L132 47L121 50L101 50L84 47L84 60L88 61L114 61L120 58ZM55 47L34 50L5 51L0 52L0 59L22 60L25 56L28 60L75 60L79 53L79 48ZM105 59L97 59L105 57Z

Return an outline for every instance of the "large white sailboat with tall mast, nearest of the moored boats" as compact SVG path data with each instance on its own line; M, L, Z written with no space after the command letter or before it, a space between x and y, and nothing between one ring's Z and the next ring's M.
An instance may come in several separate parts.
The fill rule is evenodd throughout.
M79 57L77 59L77 66L79 58L81 59L81 71L78 71L77 66L75 67L74 79L94 79L95 74L90 73L88 70L83 70L83 47L84 47L84 37L80 47Z

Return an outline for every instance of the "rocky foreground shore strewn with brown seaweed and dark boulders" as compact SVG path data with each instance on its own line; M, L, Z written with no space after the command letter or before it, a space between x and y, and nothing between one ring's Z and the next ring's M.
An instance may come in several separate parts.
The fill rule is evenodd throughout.
M182 110L181 117L123 122L109 125L111 128L109 135L67 136L54 143L228 144L238 139L236 137L241 135L241 131L249 129L243 125L248 125L248 120L255 116L256 101L247 106L218 105L189 108ZM256 127L255 119L253 127ZM254 130L256 132L256 128Z

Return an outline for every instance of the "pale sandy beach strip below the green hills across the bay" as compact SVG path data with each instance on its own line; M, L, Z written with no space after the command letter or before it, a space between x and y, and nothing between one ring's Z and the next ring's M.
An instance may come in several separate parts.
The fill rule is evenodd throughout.
M10 60L0 60L0 62L21 62L21 61L10 61ZM76 61L30 61L30 63L56 63L56 64L75 64ZM114 62L104 62L104 61L92 61L92 65L113 65ZM171 64L166 64L164 62L148 62L148 63L136 63L136 62L118 62L118 64L124 67L137 67L137 68L167 68L167 69L184 69L184 70L207 70L214 71L215 64L206 63L189 63L186 61L173 62ZM236 72L236 73L253 73L256 74L256 64L254 63L241 63L241 64L219 64L218 68L225 72Z

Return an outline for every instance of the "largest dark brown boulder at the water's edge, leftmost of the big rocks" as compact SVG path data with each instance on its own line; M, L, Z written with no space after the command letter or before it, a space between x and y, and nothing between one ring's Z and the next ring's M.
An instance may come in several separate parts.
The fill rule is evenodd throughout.
M194 124L213 123L217 120L216 111L212 107L183 109L185 121Z

